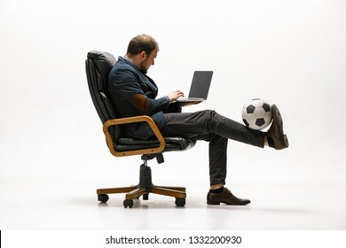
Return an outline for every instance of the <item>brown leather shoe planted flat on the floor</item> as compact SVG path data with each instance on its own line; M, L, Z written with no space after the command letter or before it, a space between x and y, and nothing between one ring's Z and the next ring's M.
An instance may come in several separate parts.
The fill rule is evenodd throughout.
M208 205L220 205L220 203L224 203L226 205L247 205L250 203L250 200L235 197L231 190L228 190L227 188L224 188L224 190L219 194L208 192Z

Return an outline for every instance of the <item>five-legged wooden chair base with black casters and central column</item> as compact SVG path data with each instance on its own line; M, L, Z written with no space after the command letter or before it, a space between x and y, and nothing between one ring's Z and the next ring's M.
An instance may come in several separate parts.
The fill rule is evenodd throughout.
M143 196L147 200L149 193L176 198L177 206L185 205L186 189L184 187L155 186L152 182L152 171L150 167L142 165L139 169L139 183L136 186L98 189L98 200L105 203L107 194L127 193L123 202L124 207L132 207L133 200Z

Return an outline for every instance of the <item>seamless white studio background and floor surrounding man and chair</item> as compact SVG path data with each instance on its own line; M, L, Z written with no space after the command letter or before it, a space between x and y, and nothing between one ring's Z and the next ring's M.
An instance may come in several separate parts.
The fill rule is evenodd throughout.
M249 98L279 106L289 149L229 142L226 186L250 206L206 208L201 142L150 164L157 184L187 187L184 218L164 197L139 205L150 221L122 220L123 196L99 207L95 190L136 183L140 160L107 151L84 60L122 56L144 33L161 48L149 70L160 95L214 71L208 101L185 111L241 121ZM0 229L346 228L345 1L1 0L0 34ZM177 223L155 221L171 213Z

